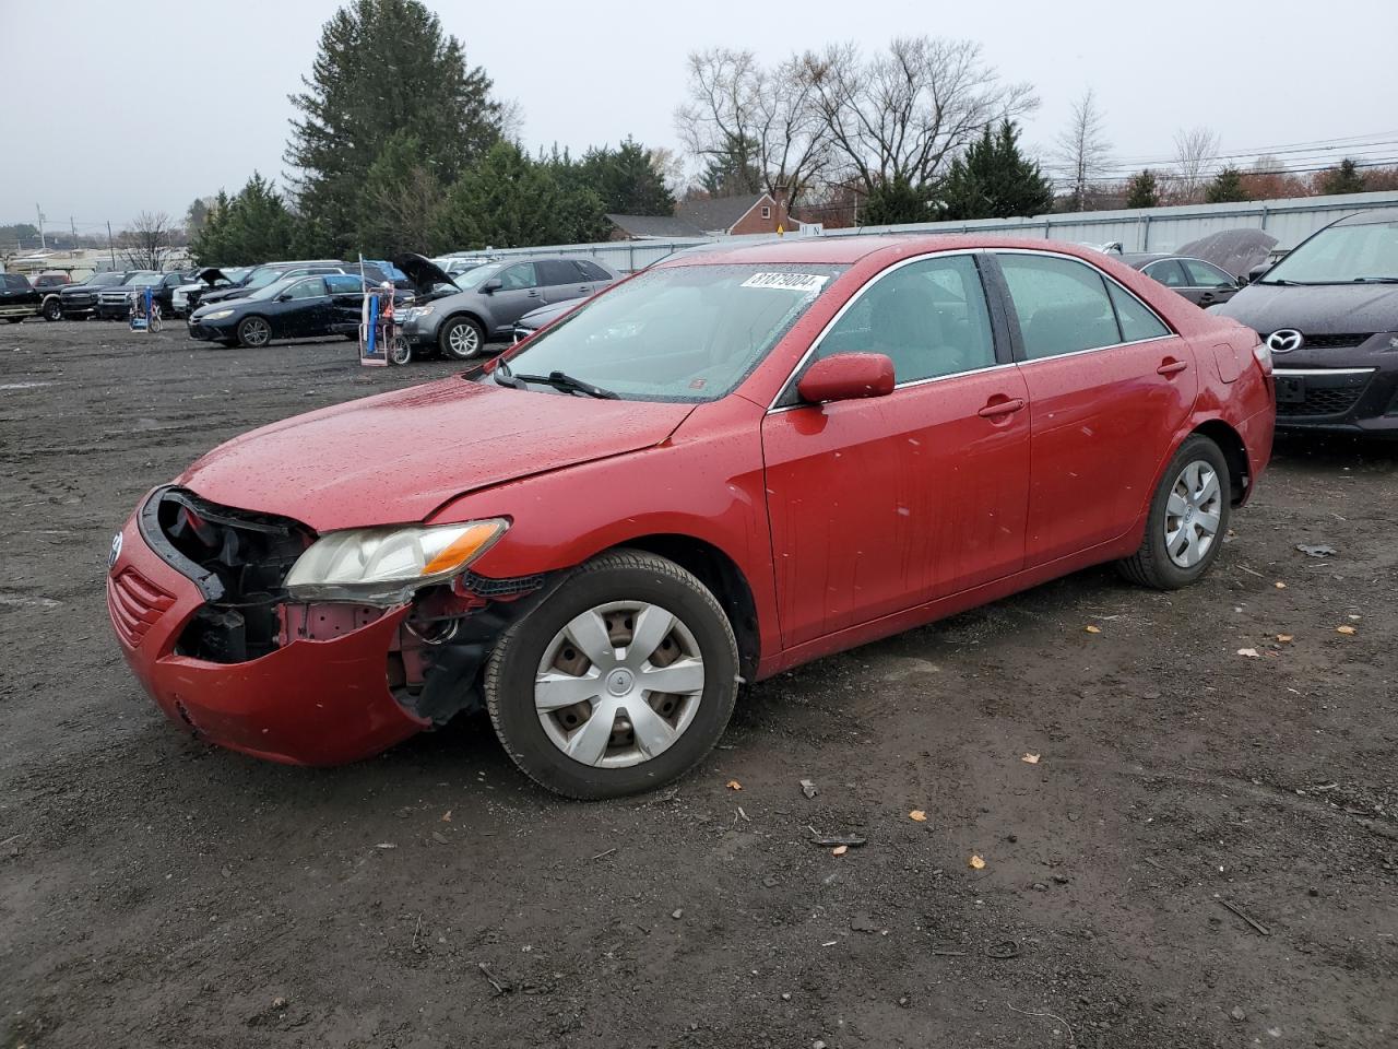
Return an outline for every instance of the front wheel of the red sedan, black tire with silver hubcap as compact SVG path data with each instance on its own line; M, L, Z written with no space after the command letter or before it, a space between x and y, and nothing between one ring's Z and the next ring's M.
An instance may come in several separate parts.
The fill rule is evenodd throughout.
M630 610L636 610L635 624ZM603 632L591 638L583 634L597 639L593 643L601 642L604 659L615 660L608 673L597 676L593 671L598 667L583 652L586 645L573 641L573 624L604 622L600 615L624 634L632 625L640 629L654 615L650 634L658 641L644 643L649 653L630 653L635 634L622 642ZM555 657L558 662L545 664ZM572 670L561 669L565 660L573 660ZM626 669L628 662L635 673ZM684 688L674 694L642 688L642 674L668 667L674 670L665 680ZM555 695L565 699L593 688L569 687L570 681L596 681L598 691L591 699L541 713L535 698L541 677L548 678L545 687L561 687ZM630 691L621 691L625 688ZM651 790L689 772L723 736L737 694L738 645L719 601L675 562L640 550L614 550L577 568L540 607L505 631L485 666L485 702L506 752L540 786L586 800ZM587 733L598 709L611 712L605 726L611 730ZM633 709L647 711L647 743L635 730L618 727L635 718ZM586 762L563 752L565 745L583 744L577 750L589 757L586 744L598 741L600 750L591 747Z

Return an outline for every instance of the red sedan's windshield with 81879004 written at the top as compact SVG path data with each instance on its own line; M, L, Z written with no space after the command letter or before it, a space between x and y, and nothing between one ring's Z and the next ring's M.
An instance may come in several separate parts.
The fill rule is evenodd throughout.
M745 263L647 270L509 358L514 375L565 372L630 400L731 393L843 266Z

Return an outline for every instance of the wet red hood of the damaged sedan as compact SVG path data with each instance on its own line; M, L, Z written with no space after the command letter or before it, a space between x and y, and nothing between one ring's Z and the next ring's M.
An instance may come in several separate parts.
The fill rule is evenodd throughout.
M419 522L470 491L657 445L692 410L453 376L254 429L178 484L316 531Z

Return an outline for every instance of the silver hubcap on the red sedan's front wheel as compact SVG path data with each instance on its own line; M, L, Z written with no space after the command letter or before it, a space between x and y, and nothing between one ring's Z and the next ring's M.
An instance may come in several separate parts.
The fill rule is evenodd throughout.
M664 754L703 698L703 657L674 613L611 601L569 620L544 649L534 709L549 741L596 768Z

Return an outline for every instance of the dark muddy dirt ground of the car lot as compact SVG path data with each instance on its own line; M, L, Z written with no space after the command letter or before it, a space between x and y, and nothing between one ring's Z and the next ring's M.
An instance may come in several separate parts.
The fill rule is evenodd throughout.
M825 659L577 804L481 719L306 771L157 712L102 593L136 499L452 371L173 329L0 326L4 1049L1398 1045L1398 448L1283 442L1201 586Z

